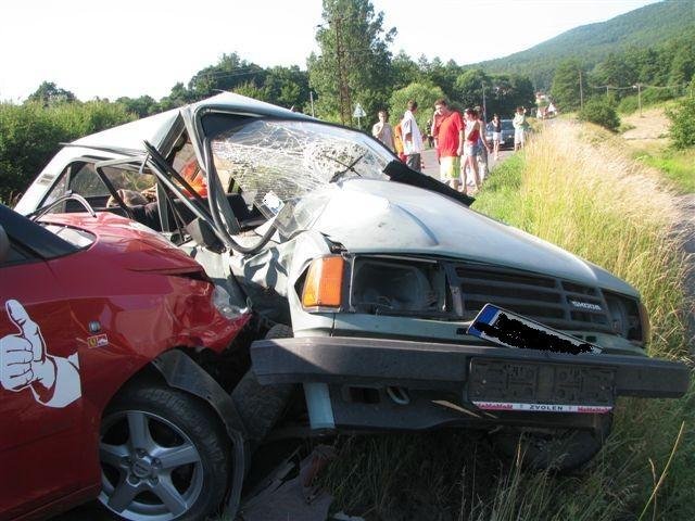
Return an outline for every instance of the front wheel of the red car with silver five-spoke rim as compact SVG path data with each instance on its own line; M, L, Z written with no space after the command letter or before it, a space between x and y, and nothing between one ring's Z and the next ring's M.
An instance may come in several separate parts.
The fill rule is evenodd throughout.
M200 401L165 386L130 387L102 419L99 500L130 520L204 519L227 490L229 445Z

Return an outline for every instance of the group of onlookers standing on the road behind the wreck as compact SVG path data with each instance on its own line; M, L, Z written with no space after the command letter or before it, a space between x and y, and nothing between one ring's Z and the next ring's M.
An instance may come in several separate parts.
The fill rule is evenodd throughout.
M462 117L460 113L450 107L445 99L437 100L434 114L428 122L425 137L417 126L416 112L417 102L408 101L403 118L392 128L387 122L387 112L379 111L379 122L371 128L371 134L417 171L421 171L422 168L421 153L424 139L427 139L430 147L437 149L442 182L463 192L469 185L471 193L480 190L486 170L488 154L494 153L495 160L500 156L500 116L494 114L491 120L491 150L485 140L485 123L479 107L466 109ZM517 107L513 125L514 149L519 150L523 147L528 129L526 109Z

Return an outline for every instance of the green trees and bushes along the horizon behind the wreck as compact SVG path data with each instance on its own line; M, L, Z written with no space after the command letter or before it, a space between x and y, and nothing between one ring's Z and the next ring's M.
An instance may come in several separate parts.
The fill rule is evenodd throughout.
M418 101L421 128L438 98L458 110L484 106L486 114L510 117L516 106L534 103L534 86L523 74L490 74L480 66L462 66L439 58L412 59L393 54L395 28L383 26L383 13L370 0L324 0L323 24L316 29L318 52L299 66L264 68L238 53L224 54L185 85L154 100L150 96L96 99L86 103L53 82L45 81L23 105L0 104L0 200L10 201L26 187L59 143L134 118L175 109L219 91L233 91L313 114L321 119L357 126L352 112L359 103L366 128L379 110L395 122L408 99ZM648 99L674 97L669 85L692 81L695 72L695 29L654 48L610 54L591 69L580 60L560 63L551 94L563 111L580 106L582 98L606 96L614 105L634 98L631 85L645 86ZM607 86L607 87L606 87ZM649 87L652 86L652 87ZM605 90L604 90L605 89ZM652 89L652 90L649 90ZM692 89L692 84L691 84Z

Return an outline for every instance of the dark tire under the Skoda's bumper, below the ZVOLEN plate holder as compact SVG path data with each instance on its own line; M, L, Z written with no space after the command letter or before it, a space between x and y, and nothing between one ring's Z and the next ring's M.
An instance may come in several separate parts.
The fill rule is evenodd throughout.
M594 430L504 429L491 434L493 445L506 458L521 458L531 470L564 473L589 462L603 447L610 432L611 415L601 415Z

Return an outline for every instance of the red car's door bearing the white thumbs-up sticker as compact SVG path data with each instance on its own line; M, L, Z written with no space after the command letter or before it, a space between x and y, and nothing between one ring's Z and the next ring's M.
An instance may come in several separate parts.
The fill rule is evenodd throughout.
M72 313L46 258L67 259L70 244L27 245L50 232L2 205L0 225L0 518L11 519L84 486L88 431Z

